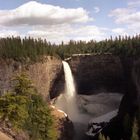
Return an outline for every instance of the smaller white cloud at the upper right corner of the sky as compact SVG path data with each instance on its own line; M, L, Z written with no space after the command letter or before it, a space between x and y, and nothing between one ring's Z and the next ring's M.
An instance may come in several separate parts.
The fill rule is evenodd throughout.
M128 2L127 7L117 8L110 12L116 24L123 25L124 29L114 29L114 33L129 33L130 35L140 33L140 0Z

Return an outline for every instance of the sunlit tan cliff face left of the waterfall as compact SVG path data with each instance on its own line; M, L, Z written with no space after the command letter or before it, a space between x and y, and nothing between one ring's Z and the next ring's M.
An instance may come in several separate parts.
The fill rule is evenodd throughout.
M0 93L11 89L10 80L18 73L25 72L32 80L38 92L49 98L53 82L62 69L61 60L46 57L42 62L22 64L14 60L0 60Z

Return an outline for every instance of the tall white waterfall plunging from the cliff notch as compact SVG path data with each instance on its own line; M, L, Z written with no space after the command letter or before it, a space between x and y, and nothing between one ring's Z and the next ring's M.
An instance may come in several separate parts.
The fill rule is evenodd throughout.
M78 119L78 107L76 104L76 88L74 78L67 62L62 61L65 75L65 97L67 102L67 114L71 120Z

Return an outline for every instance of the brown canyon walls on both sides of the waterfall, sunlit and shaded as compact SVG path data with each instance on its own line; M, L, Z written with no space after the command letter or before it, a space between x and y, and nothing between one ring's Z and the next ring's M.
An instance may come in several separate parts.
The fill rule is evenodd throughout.
M115 95L121 93L123 98L118 108L118 121L127 113L135 113L139 107L140 99L139 60L120 58L112 54L85 54L73 55L66 61L71 67L78 95L88 96L98 93L112 93ZM11 89L10 80L16 74L22 72L29 75L44 100L52 101L64 93L64 70L62 61L58 58L47 56L40 62L27 62L24 64L12 59L1 59L0 63L1 94ZM67 127L64 129L67 129ZM103 131L105 134L110 135L108 130ZM62 135L67 135L67 133L69 132L65 131L65 134Z

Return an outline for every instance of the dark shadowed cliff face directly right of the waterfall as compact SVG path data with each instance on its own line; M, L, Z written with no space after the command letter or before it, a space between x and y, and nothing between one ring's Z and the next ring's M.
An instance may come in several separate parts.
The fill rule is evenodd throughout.
M124 70L111 54L73 56L69 61L80 94L124 92Z

